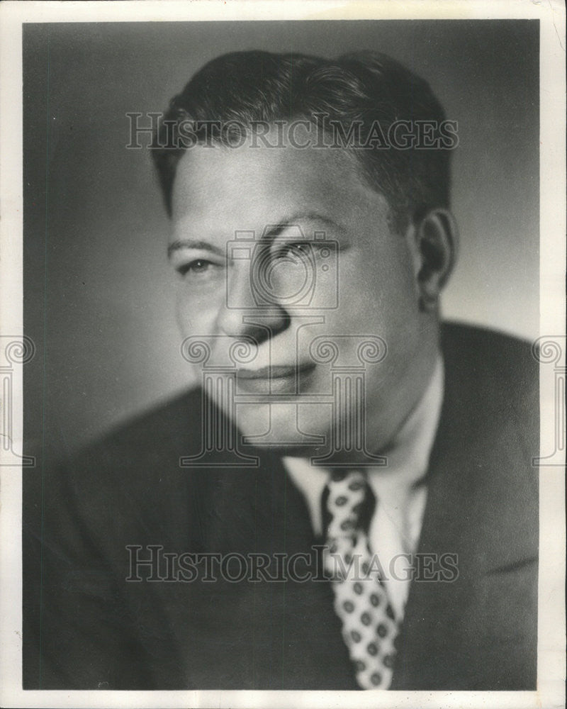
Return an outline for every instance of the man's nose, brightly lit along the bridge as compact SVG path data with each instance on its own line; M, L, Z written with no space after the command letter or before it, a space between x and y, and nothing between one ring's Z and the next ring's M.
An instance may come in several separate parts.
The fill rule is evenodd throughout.
M221 333L252 337L260 345L289 327L289 314L280 303L258 303L254 298L248 268L233 267L230 276L216 322Z

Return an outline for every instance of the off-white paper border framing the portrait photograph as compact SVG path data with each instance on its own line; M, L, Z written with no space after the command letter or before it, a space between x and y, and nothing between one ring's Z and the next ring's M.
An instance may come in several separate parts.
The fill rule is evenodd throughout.
M21 342L11 370L11 450L22 451L23 225L22 33L34 22L220 20L489 19L540 21L540 562L537 691L45 691L21 688L21 467L0 466L0 704L5 707L559 707L565 692L565 433L556 406L565 381L565 8L560 0L398 0L374 2L133 0L18 2L0 5L0 328ZM546 343L551 342L551 345ZM558 356L544 357L544 345ZM551 351L550 350L550 351ZM561 415L563 420L561 421ZM561 427L563 442L561 443ZM562 447L561 447L562 446ZM551 450L557 454L551 454ZM4 451L0 451L3 454ZM547 459L545 459L547 458Z

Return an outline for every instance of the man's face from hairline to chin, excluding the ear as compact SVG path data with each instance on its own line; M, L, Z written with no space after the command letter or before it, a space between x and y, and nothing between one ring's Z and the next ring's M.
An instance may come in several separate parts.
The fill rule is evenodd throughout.
M179 323L208 343L196 366L245 437L356 459L364 422L364 447L388 444L434 357L413 236L393 233L344 150L186 151L170 243Z

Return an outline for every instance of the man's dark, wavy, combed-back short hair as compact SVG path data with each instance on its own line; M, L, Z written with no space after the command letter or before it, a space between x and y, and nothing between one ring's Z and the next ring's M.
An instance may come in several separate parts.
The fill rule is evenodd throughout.
M177 140L182 123L231 122L231 128L237 123L253 131L254 123L295 119L323 125L325 130L330 123L339 124L342 135L357 122L364 143L376 123L388 135L396 121L439 125L445 115L424 79L377 52L336 60L261 51L217 57L172 99L155 136L152 153L168 213L176 165L187 149ZM194 135L197 143L211 142L210 132ZM230 145L227 135L217 131L213 141ZM408 221L417 222L430 208L449 207L449 150L348 145L344 149L354 152L366 181L386 197L395 229L405 230Z

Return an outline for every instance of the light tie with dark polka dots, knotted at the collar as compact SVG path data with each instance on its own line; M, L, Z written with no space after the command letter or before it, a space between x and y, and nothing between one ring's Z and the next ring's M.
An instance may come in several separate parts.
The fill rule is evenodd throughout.
M333 471L324 496L330 516L325 570L359 686L388 689L399 628L361 525L361 510L369 496L373 497L364 473Z

